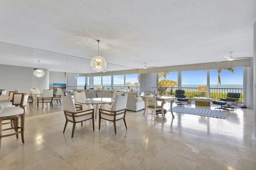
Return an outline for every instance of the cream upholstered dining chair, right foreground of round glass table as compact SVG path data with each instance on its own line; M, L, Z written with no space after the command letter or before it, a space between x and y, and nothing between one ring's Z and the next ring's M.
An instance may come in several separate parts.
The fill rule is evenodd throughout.
M115 97L114 104L111 111L105 109L99 109L99 130L101 119L106 121L112 121L114 123L114 130L116 134L116 121L124 120L124 125L127 130L125 115L126 115L126 104L127 104L128 94L117 94Z

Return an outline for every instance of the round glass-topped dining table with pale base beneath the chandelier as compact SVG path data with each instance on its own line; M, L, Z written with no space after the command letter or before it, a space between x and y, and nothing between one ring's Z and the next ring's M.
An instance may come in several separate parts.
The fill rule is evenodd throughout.
M94 124L97 125L99 121L99 108L109 110L109 104L114 103L113 98L88 98L79 104L91 104L94 108ZM108 121L106 121L108 125Z

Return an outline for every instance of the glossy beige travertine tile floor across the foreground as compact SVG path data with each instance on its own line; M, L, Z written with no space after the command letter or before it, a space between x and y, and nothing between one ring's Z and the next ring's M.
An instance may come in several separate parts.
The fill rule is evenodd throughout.
M252 109L225 111L226 119L181 113L172 119L168 112L166 121L128 111L128 131L123 121L117 123L117 136L111 122L102 123L101 131L98 125L93 131L89 123L77 124L73 139L71 123L62 133L61 111L56 104L28 109L25 144L15 136L3 138L0 169L256 169Z

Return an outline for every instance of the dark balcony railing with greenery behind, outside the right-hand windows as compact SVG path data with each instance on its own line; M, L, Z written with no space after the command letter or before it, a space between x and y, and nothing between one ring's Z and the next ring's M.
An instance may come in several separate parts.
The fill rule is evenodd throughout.
M151 91L155 91L160 96L172 96L175 95L175 90L177 90L178 87L159 87L158 89L156 87L151 87ZM182 90L185 90L185 96L189 99L193 99L194 97L199 97L200 92L198 91L198 88L194 87L182 87ZM218 96L217 96L218 91ZM210 98L213 98L214 100L220 100L220 98L226 98L228 92L232 93L241 93L239 102L243 102L243 89L242 88L210 88ZM207 96L207 92L206 92Z

